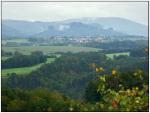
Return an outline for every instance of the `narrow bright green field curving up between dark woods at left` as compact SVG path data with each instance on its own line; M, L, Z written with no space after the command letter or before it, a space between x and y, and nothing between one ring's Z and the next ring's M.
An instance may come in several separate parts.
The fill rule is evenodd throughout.
M55 58L47 58L46 63L51 63L55 60ZM35 65L35 66L31 66L31 67L23 67L23 68L11 68L11 69L2 69L2 76L7 76L7 74L9 73L16 73L16 74L28 74L30 72L32 72L33 70L38 69L39 67L41 67L41 65L43 65L44 63Z

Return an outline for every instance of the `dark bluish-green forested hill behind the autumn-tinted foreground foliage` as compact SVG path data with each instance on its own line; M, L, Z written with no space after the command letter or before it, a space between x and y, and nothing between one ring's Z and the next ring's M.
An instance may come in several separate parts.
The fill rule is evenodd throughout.
M102 52L82 52L63 54L55 62L45 64L27 75L20 76L14 73L2 83L2 86L22 89L44 87L50 91L59 91L69 97L79 99L83 98L89 81L99 76L97 75L99 68L95 66L103 70L100 75L111 74L113 69L120 73L126 72L127 87L134 85L134 82L131 82L134 79L128 76L130 75L128 72L141 69L145 72L144 81L148 80L147 57L141 59L133 56L119 56L112 60Z

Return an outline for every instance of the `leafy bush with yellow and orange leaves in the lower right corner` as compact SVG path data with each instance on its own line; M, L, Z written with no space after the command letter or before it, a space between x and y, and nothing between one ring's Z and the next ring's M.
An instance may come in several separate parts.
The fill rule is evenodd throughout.
M119 80L122 76L113 71L111 82L115 79ZM132 86L127 86L126 84L122 84L124 83L124 79L122 79L122 82L115 84L114 87L109 86L108 81L110 79L108 77L110 78L110 76L99 77L97 91L102 95L102 99L98 104L102 111L148 111L148 84L144 82L140 83L144 76L142 71L138 70L130 76L134 76L138 82L132 84Z

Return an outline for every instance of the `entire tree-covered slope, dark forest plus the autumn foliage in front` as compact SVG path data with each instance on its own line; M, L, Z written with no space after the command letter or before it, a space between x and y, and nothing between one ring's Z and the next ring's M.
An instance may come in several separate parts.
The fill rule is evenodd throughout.
M2 78L2 111L148 111L148 51L140 51L63 53L30 74L12 73Z

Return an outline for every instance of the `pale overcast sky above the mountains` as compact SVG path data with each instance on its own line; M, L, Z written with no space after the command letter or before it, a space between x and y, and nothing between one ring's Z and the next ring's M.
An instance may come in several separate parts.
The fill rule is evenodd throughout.
M147 2L3 2L2 18L58 21L82 17L122 17L148 24Z

